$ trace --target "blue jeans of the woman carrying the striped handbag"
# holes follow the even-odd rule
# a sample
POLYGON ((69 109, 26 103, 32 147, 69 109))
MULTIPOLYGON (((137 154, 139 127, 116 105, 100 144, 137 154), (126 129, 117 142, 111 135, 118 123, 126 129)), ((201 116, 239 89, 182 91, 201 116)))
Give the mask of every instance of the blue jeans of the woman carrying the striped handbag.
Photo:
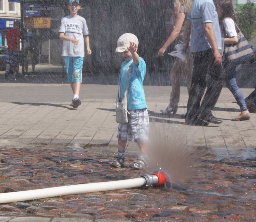
POLYGON ((224 80, 226 82, 228 89, 235 97, 236 102, 240 106, 241 111, 248 110, 246 103, 244 101, 244 96, 243 96, 240 88, 238 88, 238 86, 236 84, 236 66, 233 64, 230 64, 230 62, 225 60, 223 63, 223 67, 225 70, 224 80))

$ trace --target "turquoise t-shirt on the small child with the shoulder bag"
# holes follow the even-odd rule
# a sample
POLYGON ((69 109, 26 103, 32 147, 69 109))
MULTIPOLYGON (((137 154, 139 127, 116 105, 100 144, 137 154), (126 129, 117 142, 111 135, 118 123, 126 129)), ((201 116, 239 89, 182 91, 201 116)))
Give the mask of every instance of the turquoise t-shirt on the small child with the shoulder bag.
POLYGON ((131 70, 128 85, 128 110, 148 108, 143 89, 143 80, 146 75, 146 63, 141 57, 138 67, 136 67, 136 65, 133 63, 132 59, 130 61, 124 61, 121 65, 118 81, 118 84, 120 85, 120 101, 122 101, 124 98, 127 73, 130 64, 131 70))

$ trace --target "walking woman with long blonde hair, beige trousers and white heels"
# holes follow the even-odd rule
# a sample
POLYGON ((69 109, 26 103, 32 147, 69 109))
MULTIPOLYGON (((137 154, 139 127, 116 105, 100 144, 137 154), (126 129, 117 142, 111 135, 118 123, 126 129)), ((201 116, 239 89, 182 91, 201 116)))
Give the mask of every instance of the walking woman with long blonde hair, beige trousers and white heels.
MULTIPOLYGON (((170 34, 167 41, 164 43, 163 47, 158 51, 158 56, 164 56, 164 52, 167 47, 172 44, 172 42, 178 37, 178 43, 182 43, 183 37, 183 25, 186 21, 188 12, 192 4, 192 0, 175 0, 177 6, 177 17, 175 22, 175 27, 170 34)), ((183 51, 181 53, 184 53, 183 51)), ((188 93, 191 87, 191 71, 193 58, 189 50, 186 52, 187 63, 183 62, 180 58, 176 58, 172 70, 170 72, 171 82, 172 82, 172 92, 170 96, 170 103, 166 109, 160 110, 162 113, 169 114, 173 112, 174 114, 178 110, 178 103, 180 101, 180 74, 183 74, 183 78, 186 82, 188 93)))

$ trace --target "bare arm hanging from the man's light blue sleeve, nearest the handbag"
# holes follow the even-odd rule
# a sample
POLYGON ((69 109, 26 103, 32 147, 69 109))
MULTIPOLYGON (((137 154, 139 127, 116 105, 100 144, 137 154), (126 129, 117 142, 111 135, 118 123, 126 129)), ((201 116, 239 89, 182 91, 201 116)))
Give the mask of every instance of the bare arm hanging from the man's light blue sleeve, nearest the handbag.
POLYGON ((217 42, 215 39, 215 34, 214 34, 214 31, 212 28, 212 23, 210 23, 210 22, 204 23, 204 32, 205 32, 206 39, 209 42, 209 44, 213 50, 213 54, 215 57, 215 60, 213 63, 215 65, 218 65, 221 63, 221 54, 219 52, 218 45, 217 45, 217 42))

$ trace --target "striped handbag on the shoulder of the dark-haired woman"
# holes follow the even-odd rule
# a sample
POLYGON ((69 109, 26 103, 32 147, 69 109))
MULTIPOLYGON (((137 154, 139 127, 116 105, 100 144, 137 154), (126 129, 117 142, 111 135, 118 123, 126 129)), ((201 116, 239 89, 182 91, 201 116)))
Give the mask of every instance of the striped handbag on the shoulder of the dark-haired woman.
MULTIPOLYGON (((235 22, 234 22, 235 23, 235 22)), ((249 43, 247 42, 244 34, 240 31, 239 27, 236 25, 238 41, 234 44, 228 44, 224 47, 225 58, 235 65, 252 63, 254 62, 253 51, 249 43)))

